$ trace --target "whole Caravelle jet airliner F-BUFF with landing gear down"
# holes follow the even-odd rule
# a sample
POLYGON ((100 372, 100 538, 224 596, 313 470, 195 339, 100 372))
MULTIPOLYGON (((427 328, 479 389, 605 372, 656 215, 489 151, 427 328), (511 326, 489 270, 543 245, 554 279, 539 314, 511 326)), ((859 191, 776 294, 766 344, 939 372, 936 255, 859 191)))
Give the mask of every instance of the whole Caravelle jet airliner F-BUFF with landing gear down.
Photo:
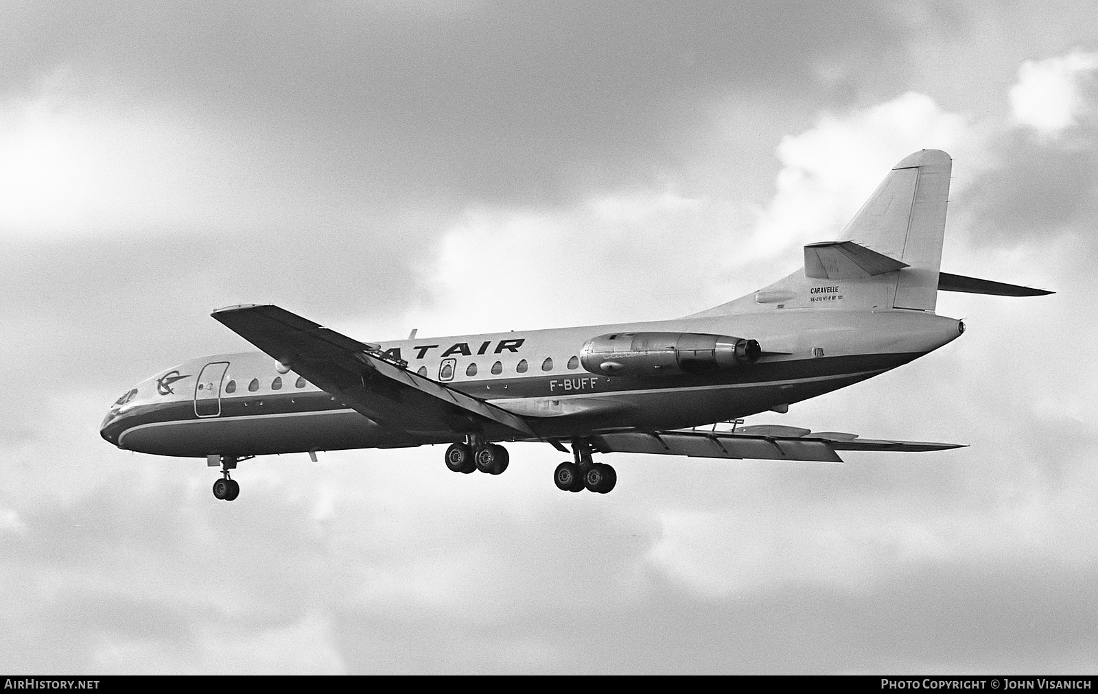
POLYGON ((205 458, 229 471, 262 455, 448 444, 446 466, 500 474, 501 443, 540 441, 571 459, 562 491, 617 482, 595 454, 842 462, 839 451, 928 451, 959 444, 865 439, 743 417, 852 385, 964 333, 934 313, 939 291, 1052 292, 940 271, 952 158, 897 164, 839 240, 733 301, 679 318, 359 342, 282 307, 212 316, 258 351, 190 359, 127 390, 101 426, 125 450, 205 458), (731 424, 731 429, 727 424, 731 424))

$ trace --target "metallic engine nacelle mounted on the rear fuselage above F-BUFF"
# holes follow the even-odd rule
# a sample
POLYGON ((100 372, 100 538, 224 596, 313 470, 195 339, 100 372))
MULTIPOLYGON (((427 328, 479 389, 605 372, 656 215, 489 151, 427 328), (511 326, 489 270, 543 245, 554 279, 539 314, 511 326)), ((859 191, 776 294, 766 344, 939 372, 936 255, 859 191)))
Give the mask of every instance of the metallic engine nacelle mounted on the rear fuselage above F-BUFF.
POLYGON ((759 343, 705 333, 610 333, 592 337, 580 363, 601 376, 710 373, 759 358, 759 343))

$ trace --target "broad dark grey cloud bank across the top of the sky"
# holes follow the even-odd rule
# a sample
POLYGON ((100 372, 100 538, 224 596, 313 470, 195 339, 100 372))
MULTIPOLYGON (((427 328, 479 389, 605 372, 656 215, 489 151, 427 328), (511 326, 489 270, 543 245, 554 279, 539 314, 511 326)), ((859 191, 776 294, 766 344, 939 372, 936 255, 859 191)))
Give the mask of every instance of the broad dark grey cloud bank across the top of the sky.
POLYGON ((864 2, 8 12, 0 25, 20 30, 0 93, 64 69, 93 103, 147 105, 223 133, 215 152, 266 155, 231 174, 268 186, 311 171, 347 195, 503 205, 643 183, 683 161, 730 92, 810 101, 818 59, 875 54, 901 26, 864 2))

